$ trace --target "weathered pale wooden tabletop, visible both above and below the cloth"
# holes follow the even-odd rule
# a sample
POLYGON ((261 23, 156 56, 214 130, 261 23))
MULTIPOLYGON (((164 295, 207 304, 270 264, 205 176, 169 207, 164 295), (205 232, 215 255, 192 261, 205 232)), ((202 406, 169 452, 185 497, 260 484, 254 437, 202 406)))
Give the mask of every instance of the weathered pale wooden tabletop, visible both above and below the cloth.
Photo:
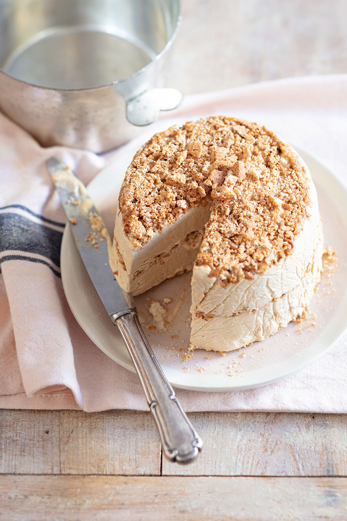
MULTIPOLYGON (((345 0, 183 0, 185 94, 347 71, 345 0)), ((347 519, 347 416, 189 414, 198 461, 163 460, 149 413, 0 411, 0 519, 347 519)))

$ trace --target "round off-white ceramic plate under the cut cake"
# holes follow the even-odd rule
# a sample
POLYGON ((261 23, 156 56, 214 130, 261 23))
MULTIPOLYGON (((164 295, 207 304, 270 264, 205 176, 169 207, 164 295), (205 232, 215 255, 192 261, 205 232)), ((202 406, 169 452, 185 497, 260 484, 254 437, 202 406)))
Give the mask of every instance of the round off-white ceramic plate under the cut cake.
MULTIPOLYGON (((140 144, 136 141, 120 150, 117 163, 107 166, 88 186, 111 234, 124 172, 140 144)), ((197 350, 188 358, 190 274, 163 282, 136 297, 135 301, 140 317, 150 326, 148 307, 151 301, 163 304, 164 298, 171 299, 169 304, 163 304, 169 320, 166 331, 148 331, 147 334, 174 387, 229 391, 263 386, 312 363, 343 333, 347 322, 347 191, 324 165, 304 151, 299 150, 299 153, 316 184, 320 214, 324 219, 325 245, 331 245, 338 258, 332 271, 323 276, 311 302, 309 317, 301 324, 291 322, 286 329, 246 349, 225 356, 197 350)), ((68 226, 61 247, 61 276, 72 313, 88 337, 112 360, 134 371, 120 335, 111 325, 86 273, 68 226)))

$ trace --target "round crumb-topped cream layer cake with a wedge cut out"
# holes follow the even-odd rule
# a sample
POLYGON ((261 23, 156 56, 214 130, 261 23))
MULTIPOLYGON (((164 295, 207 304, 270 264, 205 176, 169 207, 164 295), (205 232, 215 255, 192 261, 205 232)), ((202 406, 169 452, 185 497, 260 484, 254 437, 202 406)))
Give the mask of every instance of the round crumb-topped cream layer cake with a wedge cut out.
POLYGON ((231 351, 300 315, 322 268, 309 169, 276 134, 213 116, 155 134, 119 196, 110 264, 134 295, 192 269, 191 349, 231 351))

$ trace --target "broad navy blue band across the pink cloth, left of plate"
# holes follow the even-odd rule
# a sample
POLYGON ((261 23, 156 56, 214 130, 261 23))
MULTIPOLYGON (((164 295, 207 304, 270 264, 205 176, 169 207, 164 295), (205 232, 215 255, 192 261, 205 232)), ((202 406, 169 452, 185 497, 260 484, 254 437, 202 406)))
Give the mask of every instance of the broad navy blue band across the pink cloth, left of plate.
MULTIPOLYGON (((41 255, 60 268, 60 245, 62 231, 53 230, 44 224, 33 222, 30 217, 0 213, 0 252, 18 251, 41 255)), ((0 263, 4 260, 0 259, 0 263)), ((23 257, 22 260, 27 259, 23 257)), ((10 258, 7 258, 10 260, 10 258)), ((30 259, 33 262, 36 259, 30 259)), ((45 262, 43 262, 45 264, 45 262)), ((47 264, 49 267, 50 265, 47 264)), ((52 269, 52 268, 51 268, 52 269)), ((56 270, 54 270, 56 271, 56 270)))

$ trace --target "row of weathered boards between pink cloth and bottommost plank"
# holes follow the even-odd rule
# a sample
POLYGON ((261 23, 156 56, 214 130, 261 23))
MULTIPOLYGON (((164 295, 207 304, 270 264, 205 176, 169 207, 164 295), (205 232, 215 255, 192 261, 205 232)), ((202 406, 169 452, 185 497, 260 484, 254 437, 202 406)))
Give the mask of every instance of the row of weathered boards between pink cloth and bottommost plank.
MULTIPOLYGON (((163 475, 347 476, 347 416, 192 413, 204 440, 186 467, 163 475)), ((4 474, 159 475, 160 444, 148 413, 0 411, 4 474)))

